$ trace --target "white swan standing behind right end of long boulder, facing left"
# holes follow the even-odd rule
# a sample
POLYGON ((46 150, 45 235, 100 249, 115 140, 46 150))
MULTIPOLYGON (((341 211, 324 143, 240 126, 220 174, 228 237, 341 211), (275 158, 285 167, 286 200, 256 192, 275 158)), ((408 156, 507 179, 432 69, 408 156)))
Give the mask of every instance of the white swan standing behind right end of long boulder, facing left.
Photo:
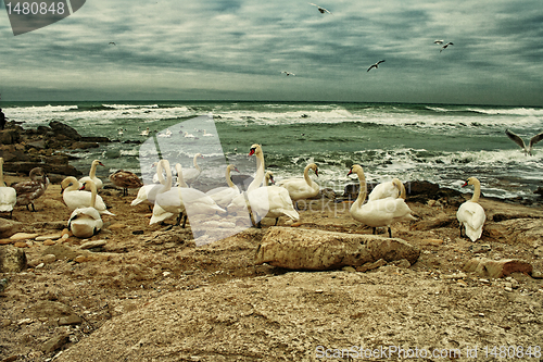
POLYGON ((388 227, 389 237, 392 237, 390 225, 402 221, 415 220, 411 214, 409 207, 405 203, 404 199, 386 198, 379 199, 363 204, 366 199, 366 177, 364 170, 361 165, 353 165, 348 175, 356 174, 358 176, 361 189, 358 198, 351 205, 351 216, 361 223, 374 228, 374 234, 377 227, 388 227))

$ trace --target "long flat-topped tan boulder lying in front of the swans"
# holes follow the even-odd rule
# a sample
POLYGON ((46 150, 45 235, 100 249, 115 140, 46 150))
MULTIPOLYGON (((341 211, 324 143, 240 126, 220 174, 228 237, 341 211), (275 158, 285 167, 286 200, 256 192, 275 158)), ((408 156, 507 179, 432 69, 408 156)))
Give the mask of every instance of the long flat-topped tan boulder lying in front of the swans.
POLYGON ((270 227, 256 251, 255 263, 291 270, 333 270, 361 266, 383 259, 406 259, 411 264, 420 255, 417 247, 399 238, 344 234, 291 227, 270 227))

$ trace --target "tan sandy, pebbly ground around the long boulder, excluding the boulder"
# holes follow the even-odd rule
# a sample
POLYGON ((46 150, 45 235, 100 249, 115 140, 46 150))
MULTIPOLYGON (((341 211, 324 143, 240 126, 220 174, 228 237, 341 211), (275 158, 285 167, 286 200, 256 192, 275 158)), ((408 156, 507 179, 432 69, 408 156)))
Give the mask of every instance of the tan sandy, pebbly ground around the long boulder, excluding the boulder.
MULTIPOLYGON (((0 361, 346 361, 362 355, 340 358, 333 349, 391 344, 457 348, 462 355, 449 360, 475 361, 467 354, 473 346, 477 360, 491 360, 500 355, 483 355, 482 348, 516 346, 520 357, 519 346, 533 352, 543 345, 542 279, 462 272, 478 255, 521 259, 543 271, 540 235, 503 232, 515 229, 516 220, 540 225, 538 209, 482 200, 488 222, 471 242, 459 238, 457 201, 409 203, 418 221, 392 233, 421 249, 417 263, 308 273, 254 264, 272 220, 197 248, 190 227, 149 226, 149 208, 129 205, 136 190, 100 195, 116 215, 103 216, 104 228, 90 239, 106 240, 104 247, 81 250, 88 240, 75 237, 50 246, 30 241, 24 250, 31 267, 0 274, 8 279, 0 294, 0 361)), ((301 212, 296 227, 371 233, 350 216, 348 203, 318 202, 316 211, 301 212)), ((36 207, 13 212, 24 232, 59 233, 71 213, 59 185, 36 207)))

